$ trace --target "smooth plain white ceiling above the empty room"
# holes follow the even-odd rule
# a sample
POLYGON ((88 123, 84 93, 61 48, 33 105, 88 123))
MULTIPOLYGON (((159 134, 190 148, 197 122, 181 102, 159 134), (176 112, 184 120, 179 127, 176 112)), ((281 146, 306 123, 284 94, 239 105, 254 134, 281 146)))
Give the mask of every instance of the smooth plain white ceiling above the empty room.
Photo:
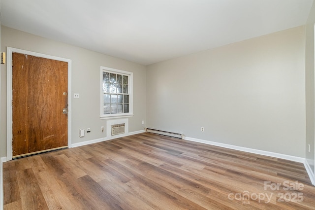
POLYGON ((304 25, 313 0, 1 0, 1 24, 143 65, 304 25))

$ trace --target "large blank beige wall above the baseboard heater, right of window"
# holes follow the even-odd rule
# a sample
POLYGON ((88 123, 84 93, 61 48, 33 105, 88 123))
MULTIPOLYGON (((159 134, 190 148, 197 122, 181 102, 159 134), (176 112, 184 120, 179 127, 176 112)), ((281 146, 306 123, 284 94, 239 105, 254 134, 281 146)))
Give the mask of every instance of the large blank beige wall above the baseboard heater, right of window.
POLYGON ((147 66, 147 119, 190 138, 305 157, 305 28, 147 66))

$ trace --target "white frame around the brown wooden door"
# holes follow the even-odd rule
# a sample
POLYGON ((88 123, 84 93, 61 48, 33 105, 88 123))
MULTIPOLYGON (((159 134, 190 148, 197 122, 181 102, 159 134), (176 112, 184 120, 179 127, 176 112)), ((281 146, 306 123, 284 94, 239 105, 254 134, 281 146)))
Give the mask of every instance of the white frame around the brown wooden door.
POLYGON ((47 58, 57 61, 63 61, 68 63, 68 148, 71 148, 71 60, 41 53, 36 53, 32 51, 7 47, 6 48, 6 55, 7 55, 7 64, 6 64, 6 160, 12 160, 12 138, 13 138, 13 131, 12 131, 12 53, 21 53, 32 55, 41 58, 47 58))

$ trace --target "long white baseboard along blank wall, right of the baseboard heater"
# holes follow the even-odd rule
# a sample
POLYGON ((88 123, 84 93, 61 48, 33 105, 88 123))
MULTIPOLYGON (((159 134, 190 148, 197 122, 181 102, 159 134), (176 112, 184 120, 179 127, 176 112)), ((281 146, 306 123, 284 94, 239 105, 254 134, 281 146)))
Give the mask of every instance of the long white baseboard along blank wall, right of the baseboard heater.
POLYGON ((301 157, 296 157, 296 156, 291 156, 291 155, 285 155, 285 154, 280 154, 276 152, 269 152, 269 151, 264 151, 264 150, 259 150, 259 149, 252 149, 252 148, 247 148, 247 147, 242 147, 242 146, 235 146, 231 144, 226 144, 226 143, 219 143, 215 141, 209 141, 209 140, 200 140, 200 139, 194 139, 190 137, 184 137, 184 140, 190 140, 190 141, 195 141, 199 143, 205 143, 205 144, 210 144, 214 146, 221 146, 224 148, 228 149, 235 149, 243 152, 249 152, 249 153, 254 153, 258 155, 265 155, 265 156, 270 156, 270 157, 275 157, 275 158, 281 158, 285 160, 291 160, 294 162, 299 162, 299 163, 304 163, 305 158, 301 157))

